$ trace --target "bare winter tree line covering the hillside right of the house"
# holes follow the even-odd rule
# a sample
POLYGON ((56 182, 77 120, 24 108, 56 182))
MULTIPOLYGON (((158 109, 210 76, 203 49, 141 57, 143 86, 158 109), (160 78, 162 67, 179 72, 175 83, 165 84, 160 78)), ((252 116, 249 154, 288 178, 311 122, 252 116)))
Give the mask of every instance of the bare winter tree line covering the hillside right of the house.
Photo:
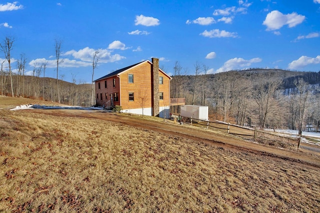
MULTIPOLYGON (((211 119, 236 125, 318 132, 320 73, 248 69, 206 74, 194 64, 194 75, 175 63, 171 98, 209 107, 211 119)), ((178 113, 175 107, 174 113, 178 113)))

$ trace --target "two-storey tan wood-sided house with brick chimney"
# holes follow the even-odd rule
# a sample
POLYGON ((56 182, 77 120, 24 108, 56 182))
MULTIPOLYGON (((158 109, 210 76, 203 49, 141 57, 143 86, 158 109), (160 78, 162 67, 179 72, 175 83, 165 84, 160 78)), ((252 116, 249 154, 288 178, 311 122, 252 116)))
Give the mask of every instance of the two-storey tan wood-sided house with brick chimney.
POLYGON ((169 117, 171 77, 159 60, 145 60, 96 79, 97 106, 122 107, 122 112, 169 117))

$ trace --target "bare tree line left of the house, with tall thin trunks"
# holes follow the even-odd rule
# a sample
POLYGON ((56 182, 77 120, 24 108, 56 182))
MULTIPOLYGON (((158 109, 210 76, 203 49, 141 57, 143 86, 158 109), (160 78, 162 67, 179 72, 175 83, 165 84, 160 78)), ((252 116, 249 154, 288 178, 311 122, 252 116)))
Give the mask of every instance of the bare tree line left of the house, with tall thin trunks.
MULTIPOLYGON (((59 65, 63 63, 60 58, 62 41, 55 40, 56 79, 45 77, 47 61, 33 66, 32 75, 25 75, 26 56, 20 54, 16 60, 16 67, 12 67, 12 50, 15 39, 6 36, 0 43, 0 50, 4 55, 1 61, 0 94, 6 96, 42 99, 51 102, 77 106, 91 106, 95 104, 93 98, 93 83, 85 84, 76 81, 72 74, 72 83, 63 81, 59 76, 59 65), (7 66, 4 66, 4 64, 7 66), (12 69, 16 68, 16 73, 12 69)), ((98 63, 98 50, 94 52, 92 62, 92 77, 98 63)))

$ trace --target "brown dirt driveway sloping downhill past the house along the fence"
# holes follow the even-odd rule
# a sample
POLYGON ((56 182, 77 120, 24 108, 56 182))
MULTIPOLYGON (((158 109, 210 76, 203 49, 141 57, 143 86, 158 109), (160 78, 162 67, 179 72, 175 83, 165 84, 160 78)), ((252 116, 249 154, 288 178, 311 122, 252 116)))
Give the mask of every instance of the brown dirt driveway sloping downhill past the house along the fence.
MULTIPOLYGON (((206 130, 190 125, 174 124, 172 121, 141 119, 137 116, 114 114, 105 111, 86 110, 41 110, 34 109, 31 112, 49 114, 61 117, 85 117, 97 120, 121 123, 135 128, 151 130, 173 138, 187 138, 195 143, 208 143, 221 149, 242 152, 246 154, 260 155, 261 158, 274 158, 285 160, 292 164, 303 166, 320 167, 320 153, 318 147, 303 144, 299 151, 288 151, 277 147, 256 144, 253 141, 245 141, 233 135, 227 135, 216 131, 206 130)), ((63 119, 63 118, 62 118, 63 119)), ((98 124, 98 122, 97 122, 98 124)))

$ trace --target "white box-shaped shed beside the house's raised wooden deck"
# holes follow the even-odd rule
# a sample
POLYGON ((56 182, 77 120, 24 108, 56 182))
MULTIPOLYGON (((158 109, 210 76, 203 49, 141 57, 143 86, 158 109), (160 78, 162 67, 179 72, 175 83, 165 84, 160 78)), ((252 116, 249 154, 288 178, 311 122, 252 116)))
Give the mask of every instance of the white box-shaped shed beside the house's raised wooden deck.
POLYGON ((208 111, 208 106, 182 105, 180 110, 180 116, 207 121, 208 111))

